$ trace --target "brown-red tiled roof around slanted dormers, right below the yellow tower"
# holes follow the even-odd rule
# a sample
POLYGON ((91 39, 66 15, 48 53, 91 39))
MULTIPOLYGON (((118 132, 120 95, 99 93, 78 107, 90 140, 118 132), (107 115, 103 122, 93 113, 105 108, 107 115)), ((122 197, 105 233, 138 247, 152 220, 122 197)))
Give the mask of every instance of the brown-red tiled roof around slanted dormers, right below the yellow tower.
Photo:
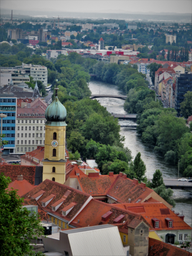
MULTIPOLYGON (((59 207, 54 214, 57 215, 60 218, 64 218, 67 221, 69 221, 71 218, 73 218, 74 215, 81 209, 83 204, 87 201, 87 199, 90 197, 90 195, 85 194, 84 192, 81 192, 79 190, 70 188, 66 185, 57 183, 52 180, 44 180, 41 184, 36 186, 34 189, 32 189, 30 192, 26 193, 23 195, 24 200, 28 200, 31 197, 34 197, 35 194, 40 192, 41 190, 45 191, 44 194, 39 198, 38 201, 34 200, 37 204, 41 205, 41 202, 47 201, 47 198, 52 195, 55 195, 55 197, 52 199, 52 201, 49 202, 49 204, 46 207, 43 207, 43 209, 46 212, 52 212, 52 205, 55 204, 58 200, 61 198, 64 198, 64 195, 68 195, 69 192, 71 191, 70 194, 67 196, 66 200, 62 204, 62 207, 64 208, 65 206, 69 205, 70 203, 76 204, 76 207, 74 207, 68 214, 67 216, 62 215, 61 207, 59 207), (67 194, 65 194, 67 192, 67 194)), ((50 198, 51 199, 51 198, 50 198)), ((35 202, 33 204, 35 204, 35 202)))

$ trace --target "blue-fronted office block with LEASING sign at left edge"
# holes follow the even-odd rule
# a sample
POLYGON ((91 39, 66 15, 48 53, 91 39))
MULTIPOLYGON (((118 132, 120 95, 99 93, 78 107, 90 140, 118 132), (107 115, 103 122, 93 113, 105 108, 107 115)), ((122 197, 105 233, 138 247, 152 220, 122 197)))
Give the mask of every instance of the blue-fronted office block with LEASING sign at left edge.
POLYGON ((8 141, 4 145, 3 154, 15 153, 15 114, 17 113, 17 97, 13 93, 0 93, 0 113, 7 117, 3 118, 2 132, 5 134, 3 140, 8 141))

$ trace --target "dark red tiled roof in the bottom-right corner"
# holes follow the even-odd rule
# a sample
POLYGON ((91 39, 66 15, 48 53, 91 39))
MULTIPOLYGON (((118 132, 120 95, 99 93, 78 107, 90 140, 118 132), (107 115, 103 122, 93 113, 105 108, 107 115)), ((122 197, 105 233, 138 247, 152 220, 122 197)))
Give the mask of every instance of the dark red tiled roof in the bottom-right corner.
POLYGON ((171 244, 163 243, 162 241, 149 238, 148 256, 192 256, 185 250, 177 248, 171 244))

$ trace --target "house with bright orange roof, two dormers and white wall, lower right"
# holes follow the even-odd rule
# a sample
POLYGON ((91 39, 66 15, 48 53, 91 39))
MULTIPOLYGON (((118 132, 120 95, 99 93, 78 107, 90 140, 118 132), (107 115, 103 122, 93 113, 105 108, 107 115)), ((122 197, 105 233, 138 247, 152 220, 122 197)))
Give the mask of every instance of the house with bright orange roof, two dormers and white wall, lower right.
POLYGON ((150 225, 150 230, 155 230, 166 243, 186 241, 191 233, 191 227, 184 222, 184 215, 170 210, 163 203, 146 201, 116 206, 142 215, 150 225))

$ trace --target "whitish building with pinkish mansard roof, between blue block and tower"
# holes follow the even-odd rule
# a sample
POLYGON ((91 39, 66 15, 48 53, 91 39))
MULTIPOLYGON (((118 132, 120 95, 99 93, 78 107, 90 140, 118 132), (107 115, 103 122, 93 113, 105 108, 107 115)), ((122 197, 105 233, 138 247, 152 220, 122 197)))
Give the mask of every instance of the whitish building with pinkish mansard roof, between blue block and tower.
POLYGON ((47 103, 40 98, 17 108, 16 152, 24 154, 34 151, 45 143, 45 110, 47 103))

